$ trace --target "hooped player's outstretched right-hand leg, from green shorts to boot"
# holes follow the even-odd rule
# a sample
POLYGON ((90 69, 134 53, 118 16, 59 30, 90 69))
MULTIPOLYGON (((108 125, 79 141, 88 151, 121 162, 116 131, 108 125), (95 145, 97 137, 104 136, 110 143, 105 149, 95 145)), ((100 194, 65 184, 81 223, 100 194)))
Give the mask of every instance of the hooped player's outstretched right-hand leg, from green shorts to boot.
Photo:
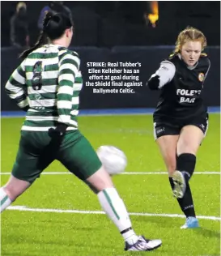
POLYGON ((113 220, 124 238, 125 250, 145 251, 158 248, 162 243, 160 240, 147 240, 134 233, 125 203, 87 139, 79 131, 75 131, 66 134, 62 144, 57 160, 60 160, 71 173, 89 184, 97 194, 104 212, 110 220, 113 220))

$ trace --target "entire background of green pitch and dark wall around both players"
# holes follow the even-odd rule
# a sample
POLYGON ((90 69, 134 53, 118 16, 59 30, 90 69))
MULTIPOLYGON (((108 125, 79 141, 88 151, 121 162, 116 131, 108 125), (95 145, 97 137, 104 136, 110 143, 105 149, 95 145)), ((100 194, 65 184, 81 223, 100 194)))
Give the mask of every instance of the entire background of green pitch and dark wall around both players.
MULTIPOLYGON (((10 18, 18 2, 1 2, 1 181, 7 181, 19 143, 24 113, 8 99, 4 85, 19 64, 22 49, 10 45, 10 18), (20 117, 21 116, 21 117, 20 117)), ((27 1, 31 45, 39 30, 37 19, 48 2, 27 1)), ((172 52, 177 34, 186 26, 205 33, 211 68, 204 97, 210 106, 210 126, 198 152, 191 188, 202 228, 180 230, 184 215, 172 198, 164 162, 153 139, 152 108, 158 92, 136 88, 136 94, 99 95, 84 87, 79 127, 93 147, 113 144, 128 158, 125 175, 113 181, 125 200, 134 228, 163 240, 153 255, 220 254, 220 2, 65 2, 74 19, 71 49, 79 52, 84 83, 86 62, 141 62, 144 83, 172 52), (156 9, 155 6, 158 6, 156 9), (144 15, 159 14, 155 27, 144 15), (118 114, 121 115, 118 115, 118 114), (138 115, 137 113, 142 113, 138 115)), ((96 196, 55 162, 2 214, 1 252, 4 256, 121 256, 123 241, 100 215, 96 196), (46 175, 45 175, 46 174, 46 175)))

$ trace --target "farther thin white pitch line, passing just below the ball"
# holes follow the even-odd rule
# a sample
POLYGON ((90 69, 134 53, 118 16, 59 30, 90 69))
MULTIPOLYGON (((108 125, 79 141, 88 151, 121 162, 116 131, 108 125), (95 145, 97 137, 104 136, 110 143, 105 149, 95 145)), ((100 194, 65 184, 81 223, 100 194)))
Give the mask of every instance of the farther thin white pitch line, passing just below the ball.
MULTIPOLYGON (((0 175, 10 175, 11 173, 0 173, 0 175)), ((66 174, 72 174, 69 172, 43 172, 41 175, 66 175, 66 174)), ((125 172, 125 173, 120 173, 119 175, 161 175, 161 174, 168 174, 167 172, 142 172, 142 173, 136 173, 136 172, 125 172)), ((216 174, 220 175, 221 173, 219 172, 195 172, 194 174, 216 174)))

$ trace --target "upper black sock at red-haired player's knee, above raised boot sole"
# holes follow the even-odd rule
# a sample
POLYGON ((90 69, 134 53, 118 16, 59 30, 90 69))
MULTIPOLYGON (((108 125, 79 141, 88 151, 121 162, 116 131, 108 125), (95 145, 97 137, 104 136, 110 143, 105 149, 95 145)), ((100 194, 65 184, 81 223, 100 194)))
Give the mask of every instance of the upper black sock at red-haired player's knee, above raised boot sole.
POLYGON ((176 156, 176 170, 183 173, 186 182, 192 177, 195 166, 196 156, 193 154, 184 153, 180 156, 176 156))

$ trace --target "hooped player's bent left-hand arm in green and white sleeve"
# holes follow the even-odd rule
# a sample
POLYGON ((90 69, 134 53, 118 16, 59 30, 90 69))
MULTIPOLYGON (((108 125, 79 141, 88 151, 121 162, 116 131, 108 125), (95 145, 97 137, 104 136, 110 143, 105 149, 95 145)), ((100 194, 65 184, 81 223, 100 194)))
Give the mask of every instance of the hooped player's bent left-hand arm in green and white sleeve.
POLYGON ((28 111, 28 98, 27 94, 24 91, 26 86, 25 70, 23 62, 16 70, 12 73, 11 77, 6 83, 6 94, 14 100, 19 108, 24 111, 28 111))

